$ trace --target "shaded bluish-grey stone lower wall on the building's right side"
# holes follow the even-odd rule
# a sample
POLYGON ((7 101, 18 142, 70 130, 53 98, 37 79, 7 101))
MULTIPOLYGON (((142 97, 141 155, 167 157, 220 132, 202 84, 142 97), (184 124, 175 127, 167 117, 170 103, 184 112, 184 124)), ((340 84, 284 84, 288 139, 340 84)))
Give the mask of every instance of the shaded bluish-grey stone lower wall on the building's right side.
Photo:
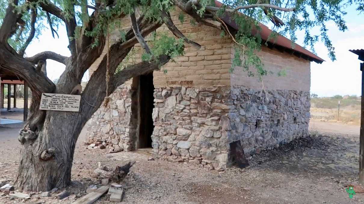
POLYGON ((261 90, 234 86, 226 105, 234 107, 229 142, 241 140, 245 154, 305 137, 310 118, 310 93, 296 90, 261 90), (262 96, 262 97, 261 97, 262 96))

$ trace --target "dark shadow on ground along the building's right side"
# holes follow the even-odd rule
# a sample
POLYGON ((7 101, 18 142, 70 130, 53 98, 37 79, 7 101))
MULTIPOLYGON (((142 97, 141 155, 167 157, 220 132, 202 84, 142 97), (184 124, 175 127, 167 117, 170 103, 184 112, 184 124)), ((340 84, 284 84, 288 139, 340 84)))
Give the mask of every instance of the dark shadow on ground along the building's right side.
MULTIPOLYGON (((253 155, 251 168, 282 174, 327 176, 350 180, 359 173, 359 138, 330 133, 296 139, 253 155)), ((336 180, 336 182, 339 182, 336 180)))

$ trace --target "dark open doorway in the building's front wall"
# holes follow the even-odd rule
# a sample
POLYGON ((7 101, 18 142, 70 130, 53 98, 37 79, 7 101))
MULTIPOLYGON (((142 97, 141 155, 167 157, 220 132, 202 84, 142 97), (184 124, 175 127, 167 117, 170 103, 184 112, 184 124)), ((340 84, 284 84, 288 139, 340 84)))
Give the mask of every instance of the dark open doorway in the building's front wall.
POLYGON ((139 77, 139 137, 137 148, 152 147, 153 108, 154 108, 153 72, 139 77))

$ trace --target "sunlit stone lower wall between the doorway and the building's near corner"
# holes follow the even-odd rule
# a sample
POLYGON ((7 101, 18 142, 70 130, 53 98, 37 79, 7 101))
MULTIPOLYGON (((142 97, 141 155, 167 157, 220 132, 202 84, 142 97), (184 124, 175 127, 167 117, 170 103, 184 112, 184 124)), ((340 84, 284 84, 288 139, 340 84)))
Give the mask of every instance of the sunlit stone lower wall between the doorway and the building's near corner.
POLYGON ((230 87, 165 87, 154 91, 154 156, 209 163, 223 168, 228 159, 226 114, 230 87))

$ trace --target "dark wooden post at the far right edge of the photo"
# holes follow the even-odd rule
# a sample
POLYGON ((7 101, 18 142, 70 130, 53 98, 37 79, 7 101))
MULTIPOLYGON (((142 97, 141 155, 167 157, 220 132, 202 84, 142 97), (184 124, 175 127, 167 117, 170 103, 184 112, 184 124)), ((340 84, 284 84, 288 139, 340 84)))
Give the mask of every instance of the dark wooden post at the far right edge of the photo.
POLYGON ((359 147, 359 184, 364 182, 364 63, 360 64, 361 70, 361 109, 360 109, 360 147, 359 147))

